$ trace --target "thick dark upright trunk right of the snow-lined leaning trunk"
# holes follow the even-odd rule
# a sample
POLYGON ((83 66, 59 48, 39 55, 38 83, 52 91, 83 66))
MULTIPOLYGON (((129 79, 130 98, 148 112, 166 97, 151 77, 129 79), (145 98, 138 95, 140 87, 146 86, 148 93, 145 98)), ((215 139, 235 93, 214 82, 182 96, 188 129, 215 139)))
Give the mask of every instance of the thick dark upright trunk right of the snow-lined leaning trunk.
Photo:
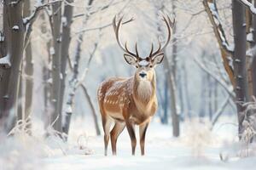
POLYGON ((233 29, 234 29, 234 75, 235 75, 235 92, 236 108, 238 116, 238 133, 241 134, 242 121, 244 119, 244 107, 242 104, 247 102, 247 67, 246 67, 246 26, 245 8, 236 0, 232 1, 233 29))

